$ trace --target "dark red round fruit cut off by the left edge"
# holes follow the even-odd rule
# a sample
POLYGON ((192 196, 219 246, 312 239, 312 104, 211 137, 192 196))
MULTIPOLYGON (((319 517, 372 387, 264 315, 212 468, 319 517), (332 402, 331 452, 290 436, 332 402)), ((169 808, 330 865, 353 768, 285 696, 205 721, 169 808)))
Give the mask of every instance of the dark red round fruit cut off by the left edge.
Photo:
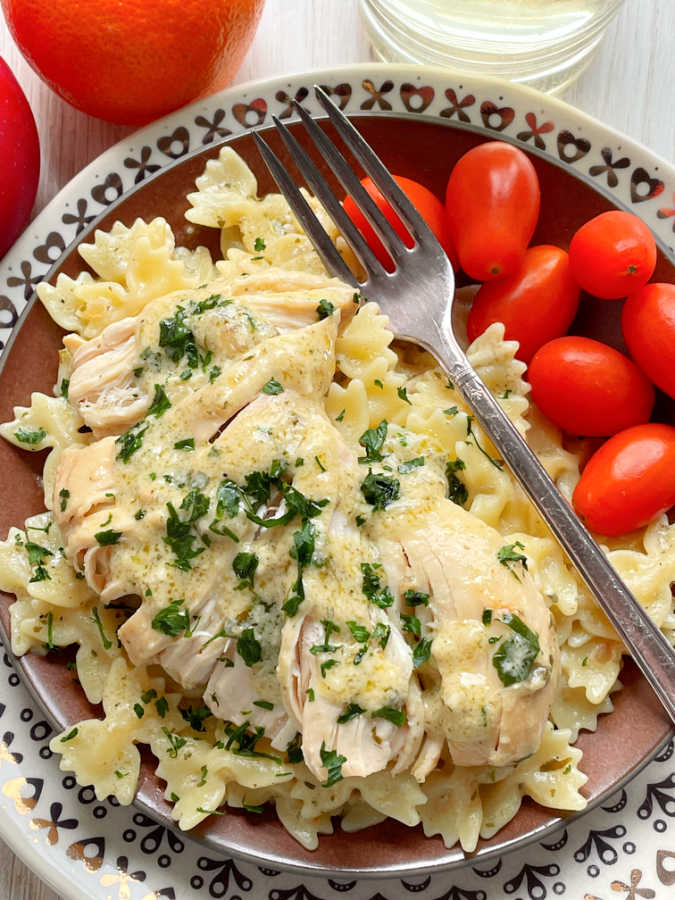
POLYGON ((0 257, 30 218, 40 175, 40 143, 26 97, 0 58, 0 257))

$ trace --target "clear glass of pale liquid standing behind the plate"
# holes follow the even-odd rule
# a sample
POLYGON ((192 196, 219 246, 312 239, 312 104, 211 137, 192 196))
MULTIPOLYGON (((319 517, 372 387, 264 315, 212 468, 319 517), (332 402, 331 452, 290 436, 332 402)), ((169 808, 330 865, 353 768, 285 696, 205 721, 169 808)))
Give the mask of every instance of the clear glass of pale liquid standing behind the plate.
POLYGON ((623 0, 361 0, 377 58, 445 66, 560 93, 623 0))

